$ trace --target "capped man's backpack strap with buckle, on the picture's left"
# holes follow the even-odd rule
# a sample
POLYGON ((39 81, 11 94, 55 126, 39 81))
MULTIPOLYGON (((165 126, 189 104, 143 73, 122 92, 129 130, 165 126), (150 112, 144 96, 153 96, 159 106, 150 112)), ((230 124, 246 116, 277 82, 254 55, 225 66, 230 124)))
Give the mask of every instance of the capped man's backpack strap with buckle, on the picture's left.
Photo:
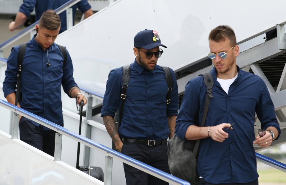
POLYGON ((121 98, 121 107, 120 107, 120 114, 119 114, 119 123, 118 123, 118 128, 120 127, 122 116, 123 116, 123 108, 124 108, 124 103, 125 103, 125 98, 126 98, 126 91, 128 88, 128 83, 130 81, 130 65, 122 66, 123 72, 122 72, 122 92, 120 95, 121 98))

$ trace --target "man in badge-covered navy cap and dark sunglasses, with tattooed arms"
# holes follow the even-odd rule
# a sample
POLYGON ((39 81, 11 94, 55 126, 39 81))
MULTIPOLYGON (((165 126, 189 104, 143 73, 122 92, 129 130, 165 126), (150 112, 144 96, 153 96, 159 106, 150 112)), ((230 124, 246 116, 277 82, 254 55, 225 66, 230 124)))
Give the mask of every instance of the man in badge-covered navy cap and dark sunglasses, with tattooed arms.
MULTIPOLYGON (((174 71, 171 101, 167 102, 168 85, 162 67, 157 65, 163 50, 157 31, 143 30, 134 38, 134 63, 130 64, 130 81, 126 89, 121 125, 116 129, 114 116, 121 107, 123 67, 109 73, 101 116, 116 149, 132 158, 170 173, 167 138, 174 135, 178 106, 178 85, 174 71), (167 102, 167 103, 166 103, 167 102)), ((123 163, 126 184, 168 184, 123 163)))

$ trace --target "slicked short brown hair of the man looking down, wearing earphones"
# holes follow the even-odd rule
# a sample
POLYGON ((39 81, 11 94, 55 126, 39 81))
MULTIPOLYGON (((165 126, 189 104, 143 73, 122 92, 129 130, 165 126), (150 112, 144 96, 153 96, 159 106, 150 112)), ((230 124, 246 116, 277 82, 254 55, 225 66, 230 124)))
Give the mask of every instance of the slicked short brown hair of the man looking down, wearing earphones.
POLYGON ((54 10, 45 11, 39 21, 40 27, 55 30, 61 27, 60 16, 54 10))

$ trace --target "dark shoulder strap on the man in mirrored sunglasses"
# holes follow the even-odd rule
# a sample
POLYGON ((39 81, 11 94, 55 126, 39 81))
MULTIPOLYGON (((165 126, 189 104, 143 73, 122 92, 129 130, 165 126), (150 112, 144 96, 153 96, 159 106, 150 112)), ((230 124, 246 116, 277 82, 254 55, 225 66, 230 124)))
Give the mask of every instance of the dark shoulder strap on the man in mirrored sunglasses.
MULTIPOLYGON (((214 78, 211 75, 210 72, 204 73, 204 74, 200 74, 199 76, 203 76, 204 78, 204 82, 205 82, 205 86, 207 87, 207 97, 205 100, 205 109, 204 109, 204 113, 202 115, 202 123, 201 123, 201 127, 205 126, 205 119, 207 117, 208 114, 208 105, 210 104, 210 100, 211 98, 214 98, 212 91, 213 91, 213 86, 214 86, 214 78)), ((200 139, 197 140, 196 145, 194 147, 194 151, 193 154, 194 156, 197 155, 197 151, 199 149, 199 145, 200 145, 200 139)))

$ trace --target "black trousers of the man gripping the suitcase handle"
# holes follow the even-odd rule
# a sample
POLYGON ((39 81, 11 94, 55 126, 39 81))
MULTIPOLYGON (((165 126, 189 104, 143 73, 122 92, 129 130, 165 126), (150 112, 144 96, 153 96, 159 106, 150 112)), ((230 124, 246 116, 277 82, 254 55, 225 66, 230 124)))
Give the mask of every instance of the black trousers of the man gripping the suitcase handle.
POLYGON ((42 125, 37 127, 23 116, 19 122, 19 130, 21 141, 54 157, 56 133, 54 130, 43 130, 42 125))

